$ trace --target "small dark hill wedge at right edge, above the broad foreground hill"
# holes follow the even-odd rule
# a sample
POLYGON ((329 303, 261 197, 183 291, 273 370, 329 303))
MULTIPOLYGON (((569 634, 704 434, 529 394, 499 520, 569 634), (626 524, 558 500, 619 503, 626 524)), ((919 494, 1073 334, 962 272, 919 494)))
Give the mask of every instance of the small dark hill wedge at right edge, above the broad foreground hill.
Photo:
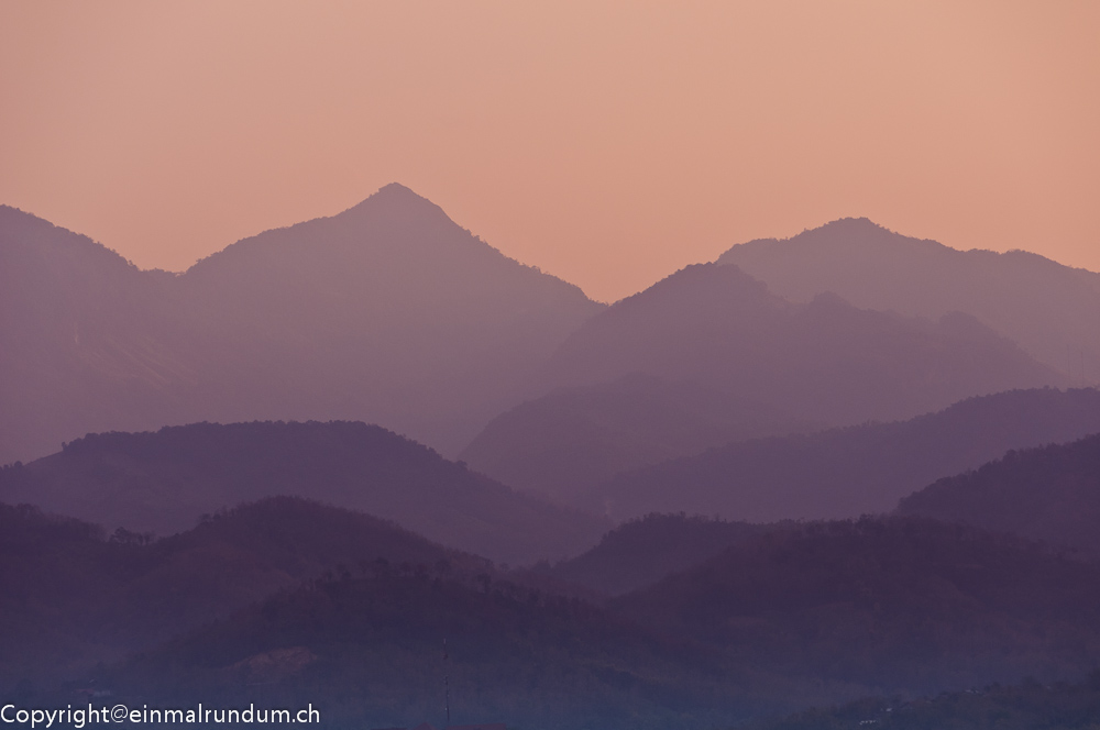
POLYGON ((1100 557, 1100 434, 1010 451, 905 497, 898 511, 1013 532, 1100 557))

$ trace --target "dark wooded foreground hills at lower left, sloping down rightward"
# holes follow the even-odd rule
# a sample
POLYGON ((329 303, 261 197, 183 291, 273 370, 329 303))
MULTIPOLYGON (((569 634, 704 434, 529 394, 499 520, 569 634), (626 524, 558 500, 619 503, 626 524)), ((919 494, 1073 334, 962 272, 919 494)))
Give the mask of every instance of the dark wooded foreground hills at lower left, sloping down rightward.
POLYGON ((484 558, 297 498, 156 541, 0 505, 0 694, 29 706, 79 707, 86 688, 135 707, 304 698, 326 727, 374 727, 439 716, 447 674, 455 719, 690 729, 835 689, 715 663, 484 558))

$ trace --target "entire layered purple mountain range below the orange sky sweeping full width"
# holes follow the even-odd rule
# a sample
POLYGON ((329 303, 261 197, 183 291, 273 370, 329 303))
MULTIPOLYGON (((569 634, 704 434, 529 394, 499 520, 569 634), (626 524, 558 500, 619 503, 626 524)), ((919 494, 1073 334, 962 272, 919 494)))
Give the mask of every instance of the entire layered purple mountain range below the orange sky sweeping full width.
POLYGON ((178 274, 0 207, 0 696, 1069 717, 1098 281, 844 219, 608 306, 396 184, 178 274))

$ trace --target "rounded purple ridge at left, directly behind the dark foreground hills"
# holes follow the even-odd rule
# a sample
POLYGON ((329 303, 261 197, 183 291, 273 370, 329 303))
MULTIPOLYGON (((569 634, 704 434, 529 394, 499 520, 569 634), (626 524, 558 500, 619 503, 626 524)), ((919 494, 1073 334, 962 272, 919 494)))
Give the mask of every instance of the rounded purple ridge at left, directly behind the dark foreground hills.
POLYGON ((0 500, 160 534, 274 495, 370 512, 508 562, 575 554, 607 527, 364 423, 196 423, 90 434, 0 472, 0 500))

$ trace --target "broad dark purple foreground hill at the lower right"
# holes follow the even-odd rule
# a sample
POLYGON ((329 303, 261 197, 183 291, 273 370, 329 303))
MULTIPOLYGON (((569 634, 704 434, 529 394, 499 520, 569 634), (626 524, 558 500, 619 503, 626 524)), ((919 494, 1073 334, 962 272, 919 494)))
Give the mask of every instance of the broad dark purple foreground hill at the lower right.
POLYGON ((1100 651, 1100 564, 913 518, 771 530, 608 605, 740 662, 878 692, 1080 676, 1100 651))

